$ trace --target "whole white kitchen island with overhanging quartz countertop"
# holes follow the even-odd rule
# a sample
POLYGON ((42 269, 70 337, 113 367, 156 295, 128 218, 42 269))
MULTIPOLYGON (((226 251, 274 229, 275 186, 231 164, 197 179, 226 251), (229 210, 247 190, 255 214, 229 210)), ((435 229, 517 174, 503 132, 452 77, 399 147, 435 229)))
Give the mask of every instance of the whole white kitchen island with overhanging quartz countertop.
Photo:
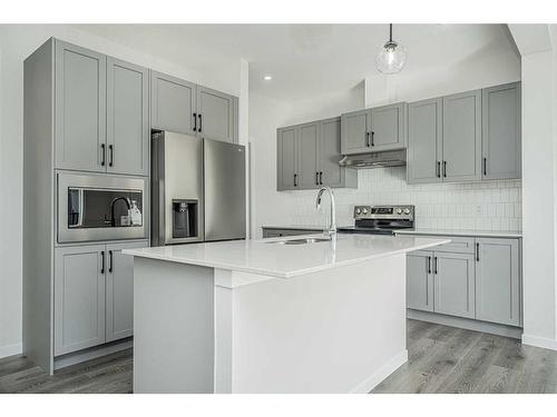
POLYGON ((449 241, 311 235, 126 250, 134 391, 368 393, 408 360, 405 254, 449 241))

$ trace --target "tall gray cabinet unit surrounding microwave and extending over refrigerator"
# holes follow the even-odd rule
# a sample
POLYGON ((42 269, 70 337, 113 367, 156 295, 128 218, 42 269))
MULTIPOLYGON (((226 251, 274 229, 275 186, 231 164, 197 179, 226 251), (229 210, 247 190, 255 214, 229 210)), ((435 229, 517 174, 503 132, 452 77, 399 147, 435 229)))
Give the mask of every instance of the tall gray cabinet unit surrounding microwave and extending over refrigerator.
POLYGON ((150 129, 237 141, 237 98, 58 39, 23 71, 23 353, 52 373, 131 346, 121 251, 149 238, 61 239, 59 176, 143 183, 148 230, 150 129))

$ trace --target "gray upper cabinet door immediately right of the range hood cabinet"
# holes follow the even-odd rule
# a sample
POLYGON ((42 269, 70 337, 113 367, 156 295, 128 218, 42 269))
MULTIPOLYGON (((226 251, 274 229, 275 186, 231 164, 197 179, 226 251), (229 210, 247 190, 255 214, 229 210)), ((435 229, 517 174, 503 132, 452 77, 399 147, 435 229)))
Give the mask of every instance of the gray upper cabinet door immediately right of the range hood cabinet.
POLYGON ((408 105, 408 182, 440 182, 442 99, 408 105))

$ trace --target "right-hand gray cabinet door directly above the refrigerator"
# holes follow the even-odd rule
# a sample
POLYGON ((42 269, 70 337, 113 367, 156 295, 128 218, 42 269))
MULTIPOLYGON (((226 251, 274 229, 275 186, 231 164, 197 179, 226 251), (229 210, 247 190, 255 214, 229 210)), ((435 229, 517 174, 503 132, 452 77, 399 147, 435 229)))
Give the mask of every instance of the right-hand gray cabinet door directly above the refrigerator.
POLYGON ((198 136, 234 142, 234 97, 206 87, 197 87, 198 136))

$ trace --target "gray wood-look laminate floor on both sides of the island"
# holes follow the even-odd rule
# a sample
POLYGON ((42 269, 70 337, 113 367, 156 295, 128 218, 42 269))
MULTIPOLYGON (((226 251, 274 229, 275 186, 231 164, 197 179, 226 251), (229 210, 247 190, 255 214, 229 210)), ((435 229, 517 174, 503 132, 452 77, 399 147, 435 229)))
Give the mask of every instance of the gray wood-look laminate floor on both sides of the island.
MULTIPOLYGON (((409 361, 372 393, 557 393, 557 351, 519 340, 408 320, 409 361)), ((0 359, 0 393, 131 393, 131 349, 46 375, 0 359)))

